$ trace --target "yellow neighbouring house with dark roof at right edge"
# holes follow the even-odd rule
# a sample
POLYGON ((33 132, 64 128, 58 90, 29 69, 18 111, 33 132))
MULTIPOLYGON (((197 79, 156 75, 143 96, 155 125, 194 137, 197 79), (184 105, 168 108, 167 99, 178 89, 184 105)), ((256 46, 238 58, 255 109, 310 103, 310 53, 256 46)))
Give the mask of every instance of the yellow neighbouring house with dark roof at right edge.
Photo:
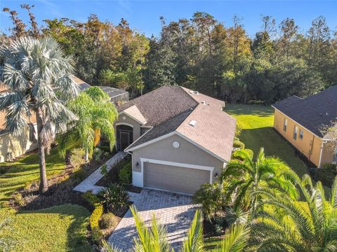
POLYGON ((317 167, 336 163, 337 148, 331 148, 324 128, 337 122, 337 86, 304 99, 292 96, 272 107, 275 130, 310 162, 317 167))

